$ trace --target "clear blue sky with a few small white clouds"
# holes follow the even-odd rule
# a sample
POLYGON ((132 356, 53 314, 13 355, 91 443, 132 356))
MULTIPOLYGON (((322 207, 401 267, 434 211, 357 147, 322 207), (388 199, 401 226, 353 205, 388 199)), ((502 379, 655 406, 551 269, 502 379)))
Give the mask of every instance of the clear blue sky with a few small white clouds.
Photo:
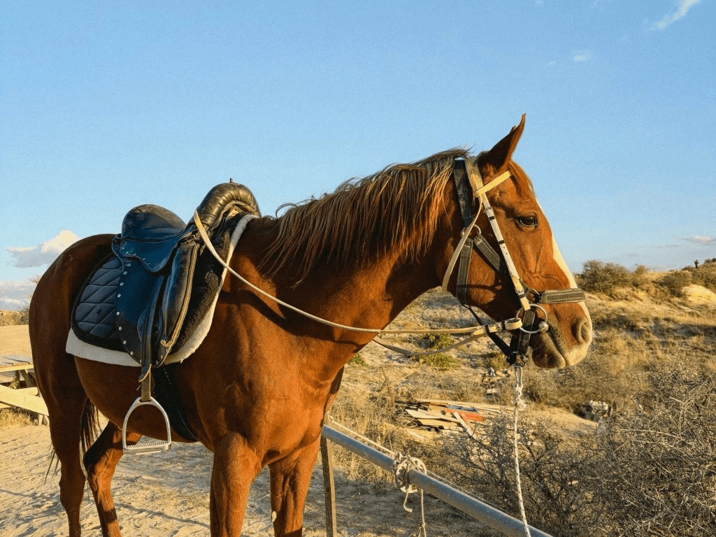
POLYGON ((450 147, 514 160, 570 268, 716 257, 716 1, 0 6, 0 309, 135 205, 263 214, 450 147))

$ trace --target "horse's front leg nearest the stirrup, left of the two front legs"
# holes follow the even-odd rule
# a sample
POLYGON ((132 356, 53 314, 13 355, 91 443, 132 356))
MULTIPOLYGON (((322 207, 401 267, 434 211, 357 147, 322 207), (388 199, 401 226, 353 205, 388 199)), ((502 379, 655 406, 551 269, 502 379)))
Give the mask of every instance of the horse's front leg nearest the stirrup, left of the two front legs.
POLYGON ((259 470, 261 461, 241 435, 228 435, 217 443, 209 498, 212 537, 241 535, 248 489, 259 470))

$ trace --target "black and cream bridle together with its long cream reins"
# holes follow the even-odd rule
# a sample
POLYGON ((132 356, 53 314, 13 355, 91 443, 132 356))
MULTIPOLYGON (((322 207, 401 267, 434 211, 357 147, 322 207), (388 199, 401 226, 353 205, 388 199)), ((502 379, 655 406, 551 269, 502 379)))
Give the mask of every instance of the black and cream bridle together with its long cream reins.
MULTIPOLYGON (((473 314, 473 316, 475 316, 475 319, 478 321, 480 326, 444 329, 392 330, 359 328, 357 326, 347 326, 334 321, 329 321, 327 319, 322 319, 319 316, 309 314, 308 312, 303 311, 296 306, 281 301, 280 299, 276 298, 276 296, 273 296, 266 291, 263 291, 263 289, 252 284, 246 278, 241 276, 241 274, 238 274, 236 271, 231 269, 231 266, 228 265, 228 262, 221 258, 216 249, 213 247, 211 239, 209 239, 203 226, 203 223, 201 223, 201 220, 198 216, 198 213, 194 213, 193 220, 197 227, 199 235, 205 243, 206 248, 208 248, 208 250, 224 267, 224 269, 233 274, 233 276, 236 276, 239 280, 243 282, 243 284, 246 284, 246 286, 248 286, 250 289, 253 289, 253 291, 256 291, 258 294, 266 296, 266 298, 275 301, 277 304, 281 304, 281 306, 285 306, 286 308, 296 311, 296 313, 306 316, 309 319, 313 319, 314 321, 317 321, 321 324, 326 324, 327 326, 333 326, 334 328, 351 330, 354 332, 367 332, 372 334, 469 334, 468 337, 460 340, 458 343, 453 344, 445 349, 441 349, 442 351, 452 349, 453 347, 458 347, 459 345, 473 341, 478 337, 489 336, 490 339, 492 339, 493 342, 499 347, 499 349, 505 354, 505 357, 507 357, 507 360, 511 365, 523 364, 526 361, 526 355, 529 347, 529 339, 531 335, 537 334, 538 332, 546 332, 549 329, 549 325, 547 323, 547 312, 539 304, 558 304, 561 302, 584 301, 584 291, 582 291, 581 289, 535 291, 520 279, 517 274, 517 269, 515 268, 515 265, 510 256, 510 252, 505 245, 502 233, 500 233, 500 228, 498 226, 497 221, 495 220, 495 214, 493 212, 493 209, 490 206, 490 202, 488 201, 487 196, 485 195, 488 190, 495 188, 495 186, 499 185, 508 178, 511 178, 511 173, 505 172, 499 175, 497 178, 491 180, 488 185, 483 185, 483 180, 480 176, 480 172, 478 171, 476 163, 477 158, 465 158, 461 160, 456 160, 455 166, 453 168, 455 188, 458 192, 458 205, 460 207, 460 216, 463 221, 463 234, 460 238, 460 242, 458 243, 457 248, 455 248, 455 253, 453 253, 452 258, 450 259, 450 263, 448 264, 448 269, 445 272, 445 277, 442 281, 442 289, 447 290, 448 281, 450 280, 450 276, 455 269, 455 264, 458 263, 459 260, 460 264, 458 266, 458 286, 455 295, 458 297, 460 304, 463 304, 463 306, 468 308, 473 314), (474 200, 478 200, 478 209, 473 214, 474 200), (497 238, 501 255, 500 253, 497 253, 492 246, 490 246, 490 243, 488 243, 483 234, 480 232, 480 228, 477 226, 478 216, 480 216, 480 211, 483 208, 485 209, 485 214, 488 216, 490 226, 492 226, 495 237, 497 238), (478 233, 475 236, 470 237, 473 228, 476 229, 478 233), (488 323, 480 319, 480 317, 475 314, 475 311, 473 311, 470 305, 467 304, 467 293, 469 289, 468 275, 470 274, 470 258, 472 256, 473 248, 475 248, 475 250, 477 250, 483 256, 483 258, 485 258, 486 261, 488 261, 490 266, 492 266, 493 269, 498 272, 498 274, 508 277, 513 282, 513 289, 516 292, 520 308, 517 310, 516 316, 512 319, 488 323), (538 319, 538 316, 536 315, 536 311, 538 310, 543 312, 544 319, 538 319), (509 345, 506 344, 503 339, 501 339, 497 335, 498 332, 505 331, 511 332, 513 334, 511 344, 509 345)), ((246 215, 243 216, 242 221, 246 221, 246 223, 248 223, 248 221, 253 218, 256 218, 256 216, 246 215)), ((243 227, 245 226, 246 224, 244 223, 243 227)), ((388 344, 384 344, 383 342, 380 342, 377 338, 375 338, 374 341, 383 345, 384 347, 395 350, 397 352, 401 352, 402 354, 408 354, 411 356, 432 354, 432 352, 406 352, 405 349, 400 349, 399 347, 392 347, 388 344)))

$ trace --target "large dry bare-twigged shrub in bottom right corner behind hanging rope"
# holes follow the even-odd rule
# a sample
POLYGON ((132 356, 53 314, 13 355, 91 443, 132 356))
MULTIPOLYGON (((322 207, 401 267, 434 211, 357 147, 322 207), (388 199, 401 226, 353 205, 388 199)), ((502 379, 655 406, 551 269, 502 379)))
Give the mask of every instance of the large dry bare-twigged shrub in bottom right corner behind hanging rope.
MULTIPOLYGON (((653 395, 579 442, 523 412, 521 483, 533 526, 555 537, 716 534, 716 375, 672 359, 653 364, 649 382, 653 395)), ((511 419, 483 422, 476 439, 446 439, 441 470, 518 516, 511 419)))

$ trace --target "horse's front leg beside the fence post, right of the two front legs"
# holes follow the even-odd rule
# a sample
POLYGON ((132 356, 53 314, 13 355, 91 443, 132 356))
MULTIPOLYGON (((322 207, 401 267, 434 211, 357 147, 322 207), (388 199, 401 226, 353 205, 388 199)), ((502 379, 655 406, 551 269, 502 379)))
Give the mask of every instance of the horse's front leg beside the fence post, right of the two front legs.
POLYGON ((321 438, 269 465, 276 537, 301 537, 304 502, 321 438))

